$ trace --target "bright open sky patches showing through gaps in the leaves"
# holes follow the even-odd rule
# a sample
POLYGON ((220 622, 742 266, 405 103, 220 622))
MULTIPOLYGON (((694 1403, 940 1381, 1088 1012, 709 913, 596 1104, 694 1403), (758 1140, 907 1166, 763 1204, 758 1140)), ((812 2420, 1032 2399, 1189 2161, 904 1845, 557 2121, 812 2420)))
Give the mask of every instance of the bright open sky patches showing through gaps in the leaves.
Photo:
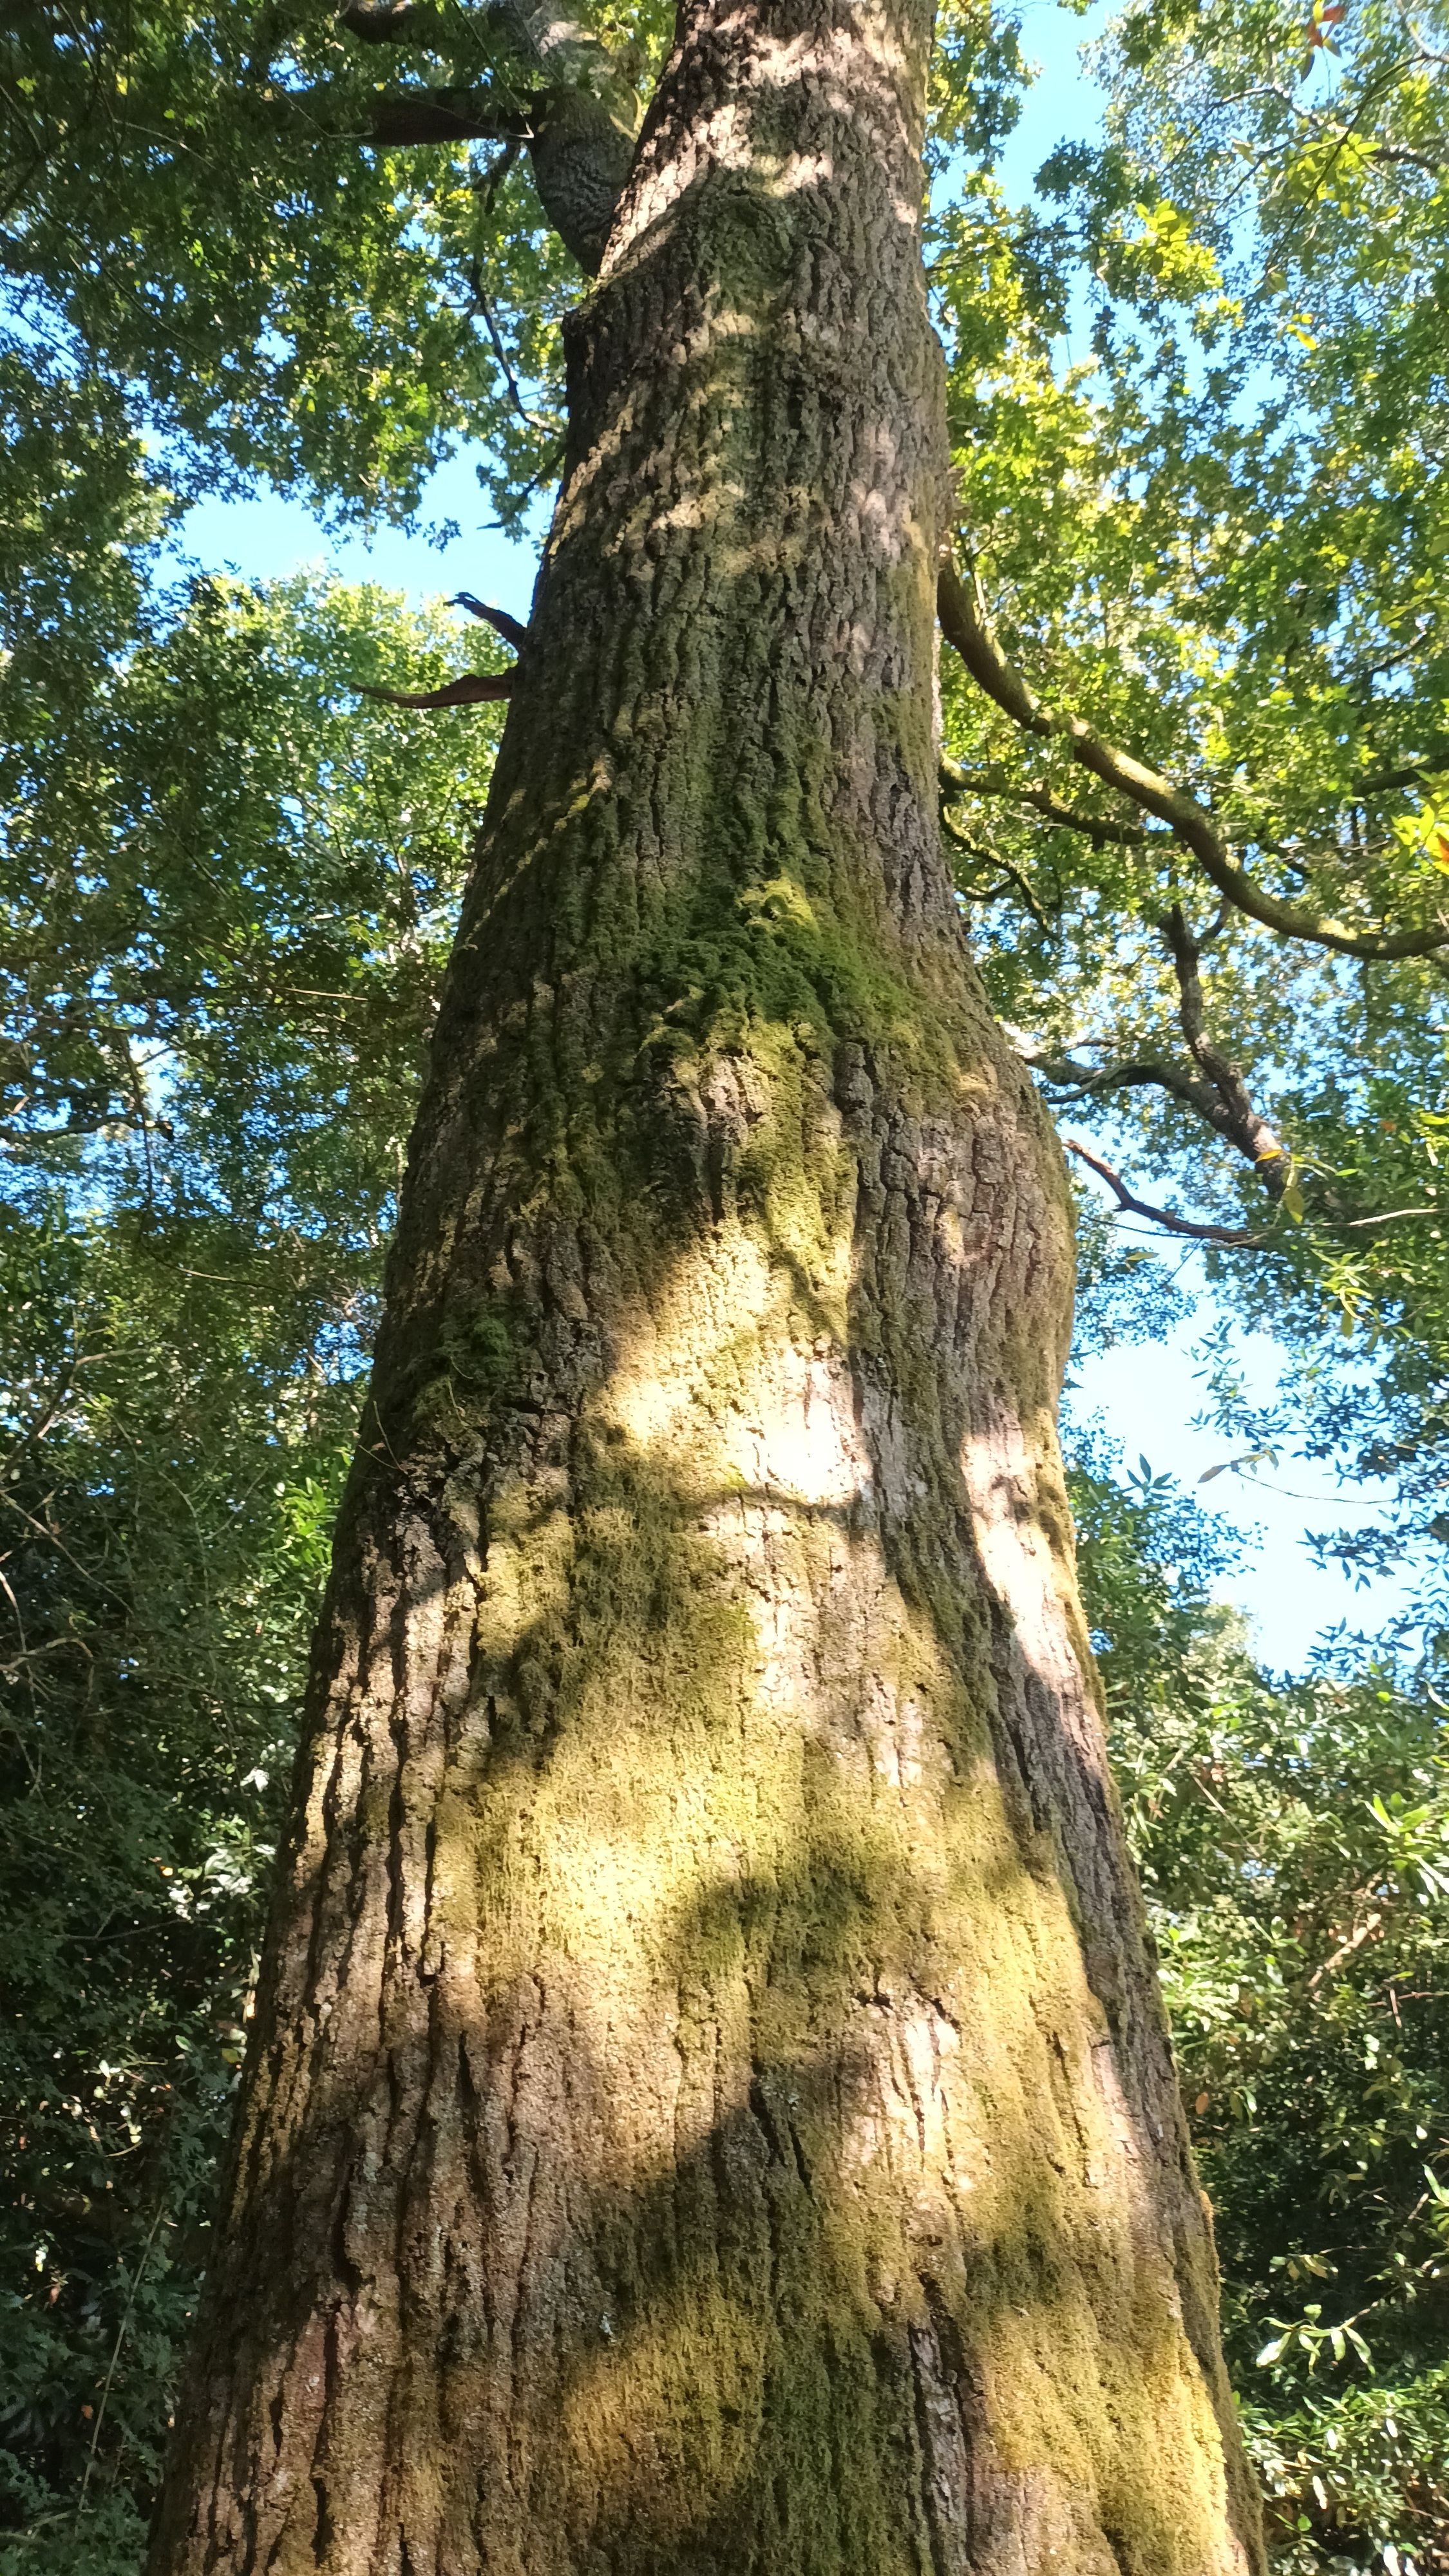
MULTIPOLYGON (((1080 49, 1101 31, 1106 15, 1109 0, 1096 0, 1085 15, 1055 8, 1049 0, 1026 0, 1021 8, 1024 54, 1039 67, 1039 77, 1003 155, 1011 198, 1031 196, 1031 178, 1057 142, 1085 139, 1098 129, 1101 93, 1080 67, 1080 49)), ((474 590, 526 616, 534 549, 513 546, 487 528, 487 502, 467 456, 454 459, 433 479, 428 515, 456 520, 462 533, 446 546, 400 531, 384 531, 371 544, 358 538, 338 544, 299 502, 268 495, 245 502, 209 500, 191 513, 183 544, 191 559, 211 567, 232 564, 258 580, 322 562, 343 580, 384 582, 413 600, 474 590)), ((1160 1342, 1088 1358, 1073 1396, 1078 1414, 1101 1414, 1127 1461, 1145 1455, 1155 1473, 1173 1473, 1186 1486, 1196 1486, 1204 1471, 1232 1455, 1232 1443, 1194 1422, 1204 1409, 1194 1345, 1207 1321, 1212 1321, 1209 1306, 1199 1309, 1194 1324, 1178 1327, 1160 1342)), ((1263 1399, 1271 1396, 1274 1345, 1263 1334, 1243 1337, 1238 1360, 1248 1386, 1263 1399)), ((1336 1497, 1320 1466, 1284 1455, 1276 1468, 1263 1468, 1256 1479, 1214 1476, 1212 1492, 1199 1499, 1240 1533, 1238 1569, 1220 1589, 1253 1620, 1258 1651, 1269 1664, 1299 1667, 1323 1628, 1338 1620, 1374 1628, 1397 1605, 1403 1595, 1397 1584, 1354 1589, 1338 1571, 1320 1571, 1312 1564, 1305 1530, 1333 1528, 1338 1520, 1356 1528, 1372 1512, 1372 1497, 1361 1489, 1336 1497)))

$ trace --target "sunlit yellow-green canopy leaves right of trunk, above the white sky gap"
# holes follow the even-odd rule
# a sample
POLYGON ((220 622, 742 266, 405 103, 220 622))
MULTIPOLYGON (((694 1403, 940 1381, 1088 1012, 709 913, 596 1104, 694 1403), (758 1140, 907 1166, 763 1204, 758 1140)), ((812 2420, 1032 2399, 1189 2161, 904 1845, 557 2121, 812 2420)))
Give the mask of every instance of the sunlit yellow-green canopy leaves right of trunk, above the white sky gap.
POLYGON ((944 827, 1052 1108, 1137 1200, 1245 1247, 1207 1270, 1284 1345, 1256 1437, 1392 1481, 1377 1538, 1325 1546, 1415 1558, 1434 1649, 1449 945, 1372 951, 1449 925, 1449 46, 1436 10, 1310 26, 1129 8, 1104 142, 1057 149, 1034 209, 962 162, 936 201, 959 559, 1062 719, 1024 729, 946 654, 944 827), (1253 920, 1163 799, 1083 775, 1073 724, 1338 945, 1253 920))

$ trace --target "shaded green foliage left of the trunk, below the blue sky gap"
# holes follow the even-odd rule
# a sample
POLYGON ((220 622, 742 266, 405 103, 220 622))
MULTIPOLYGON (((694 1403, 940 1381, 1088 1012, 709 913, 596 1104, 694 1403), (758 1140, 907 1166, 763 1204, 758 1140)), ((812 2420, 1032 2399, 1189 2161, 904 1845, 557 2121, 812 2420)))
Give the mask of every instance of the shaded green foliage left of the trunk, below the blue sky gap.
POLYGON ((451 626, 147 600, 10 806, 3 2563, 121 2571, 157 2473, 490 760, 351 683, 436 680, 451 626))

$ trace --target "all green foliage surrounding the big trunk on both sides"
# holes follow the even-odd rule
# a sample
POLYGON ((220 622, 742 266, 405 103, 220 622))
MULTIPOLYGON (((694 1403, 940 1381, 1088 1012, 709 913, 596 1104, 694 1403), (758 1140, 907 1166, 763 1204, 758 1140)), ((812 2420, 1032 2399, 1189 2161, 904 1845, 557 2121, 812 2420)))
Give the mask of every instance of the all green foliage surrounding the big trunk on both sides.
MULTIPOLYGON (((389 77, 503 77, 485 15, 446 0, 389 77)), ((629 77, 657 62, 657 8, 596 31, 629 77)), ((1171 793, 1134 801, 944 657, 944 819, 1049 1097, 1207 1229, 1225 1430, 1390 1476, 1385 1535, 1325 1546, 1421 1551, 1395 1636, 1271 1685, 1212 1607, 1214 1525, 1080 1440, 1119 1777, 1287 2566, 1431 2576, 1446 18, 1155 0, 1101 59, 1106 144, 1057 152, 1018 211, 993 175, 1016 33, 944 13, 957 559, 998 662, 1171 793), (1418 953, 1377 953, 1403 933, 1418 953), (1240 1319, 1279 1334, 1274 1409, 1235 1386, 1240 1319)), ((193 492, 258 474, 407 518, 462 433, 518 523, 559 443, 578 276, 526 162, 364 149, 374 93, 376 57, 302 0, 41 5, 0 33, 3 2576, 139 2555, 492 742, 480 711, 356 698, 495 667, 477 629, 186 577, 165 546, 193 492)), ((1085 1334, 1160 1324, 1147 1249, 1091 1211, 1085 1247, 1085 1334)))

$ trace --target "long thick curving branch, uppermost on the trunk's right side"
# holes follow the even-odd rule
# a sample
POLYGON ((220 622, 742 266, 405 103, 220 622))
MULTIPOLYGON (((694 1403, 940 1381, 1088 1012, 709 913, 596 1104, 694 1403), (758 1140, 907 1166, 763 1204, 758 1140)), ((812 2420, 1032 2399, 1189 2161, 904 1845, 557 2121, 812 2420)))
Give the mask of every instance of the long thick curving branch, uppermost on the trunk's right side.
POLYGON ((1441 927, 1356 933, 1341 922, 1315 922, 1312 914, 1299 912, 1297 904, 1281 904, 1274 894, 1266 894, 1263 886, 1256 886, 1253 878, 1238 866, 1227 842, 1220 840, 1212 814, 1207 806, 1199 806, 1196 796, 1189 796, 1186 788, 1176 788, 1160 775, 1160 770, 1147 768, 1147 762, 1137 760, 1132 752, 1119 752, 1111 742, 1104 742, 1104 737, 1080 716, 1042 706, 995 641, 977 598, 975 580, 964 582, 949 556, 941 562, 936 605, 941 616, 941 634, 959 652, 977 688, 982 688, 985 696, 993 698, 1024 734, 1036 734, 1044 742, 1065 742, 1073 760, 1091 770, 1093 778, 1101 778, 1104 786, 1129 796, 1142 814, 1155 814, 1158 822, 1165 822, 1173 837, 1199 860, 1204 876, 1212 878, 1217 891, 1253 922, 1263 922, 1269 930, 1281 933, 1281 938, 1307 940, 1315 948, 1336 948, 1341 956, 1351 958, 1413 958, 1449 945, 1449 930, 1441 927))

